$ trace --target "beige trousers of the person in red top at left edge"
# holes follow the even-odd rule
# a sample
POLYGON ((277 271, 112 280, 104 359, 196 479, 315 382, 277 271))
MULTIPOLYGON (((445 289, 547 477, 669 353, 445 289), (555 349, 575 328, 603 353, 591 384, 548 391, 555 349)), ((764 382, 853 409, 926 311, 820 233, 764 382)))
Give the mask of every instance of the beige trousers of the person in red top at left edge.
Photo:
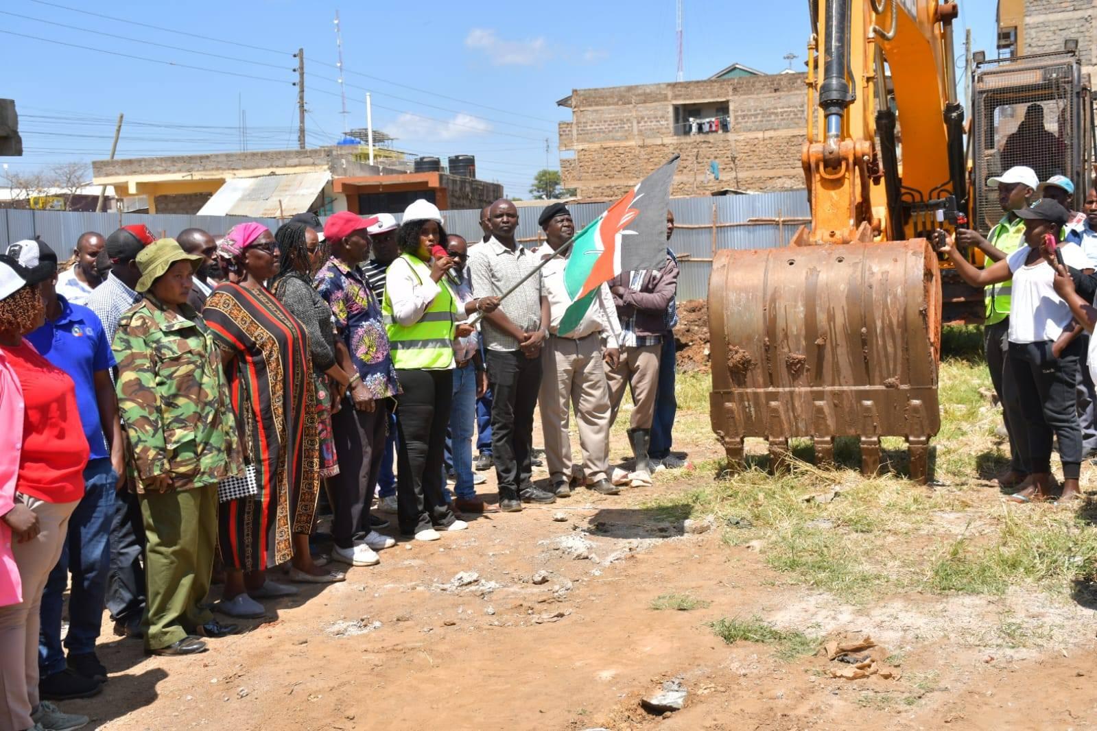
POLYGON ((23 601, 0 607, 0 731, 23 731, 34 726, 38 707, 38 627, 42 592, 49 572, 61 557, 68 521, 79 500, 47 503, 22 495, 23 504, 38 515, 38 536, 29 542, 11 540, 15 566, 23 582, 23 601))

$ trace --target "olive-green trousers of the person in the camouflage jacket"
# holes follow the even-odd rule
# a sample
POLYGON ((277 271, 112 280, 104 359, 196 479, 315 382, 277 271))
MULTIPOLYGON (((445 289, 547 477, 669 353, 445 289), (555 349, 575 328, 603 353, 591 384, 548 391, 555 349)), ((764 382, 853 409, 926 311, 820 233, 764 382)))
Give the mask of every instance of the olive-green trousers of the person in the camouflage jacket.
POLYGON ((210 591, 217 546, 217 486, 145 492, 145 647, 174 644, 213 619, 199 606, 210 591))

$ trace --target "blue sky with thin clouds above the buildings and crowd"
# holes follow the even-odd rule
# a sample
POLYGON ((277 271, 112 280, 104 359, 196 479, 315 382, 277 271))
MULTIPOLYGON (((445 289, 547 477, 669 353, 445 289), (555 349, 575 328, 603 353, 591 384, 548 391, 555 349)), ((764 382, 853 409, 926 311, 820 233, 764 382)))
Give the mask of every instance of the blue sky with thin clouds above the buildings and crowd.
MULTIPOLYGON (((961 22, 988 56, 995 5, 961 0, 961 22)), ((686 0, 685 8, 687 79, 736 61, 779 71, 790 52, 800 57, 796 68, 803 64, 806 0, 686 0)), ((365 126, 369 90, 374 126, 395 135, 399 148, 440 157, 473 153, 479 178, 497 180, 520 197, 528 197, 533 173, 546 164, 545 138, 547 164, 558 167, 556 122, 570 114, 556 100, 572 89, 675 78, 675 0, 342 7, 306 0, 5 0, 0 95, 16 101, 26 152, 0 161, 25 171, 105 158, 120 112, 126 124, 118 157, 237 150, 239 106, 247 113, 248 149, 296 147, 292 54, 298 46, 308 72, 308 144, 335 142, 344 126, 335 81, 336 10, 346 126, 365 126)), ((962 42, 960 31, 961 56, 962 42)))

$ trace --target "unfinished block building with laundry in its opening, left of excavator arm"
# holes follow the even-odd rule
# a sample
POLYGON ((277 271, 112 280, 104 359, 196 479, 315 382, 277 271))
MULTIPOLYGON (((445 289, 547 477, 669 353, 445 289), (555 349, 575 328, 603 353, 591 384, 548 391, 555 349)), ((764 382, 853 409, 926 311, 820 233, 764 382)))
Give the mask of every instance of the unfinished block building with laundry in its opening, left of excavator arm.
POLYGON ((803 187, 804 82, 733 65, 702 81, 576 89, 557 102, 572 110, 559 124, 564 186, 617 197, 678 152, 672 195, 803 187))

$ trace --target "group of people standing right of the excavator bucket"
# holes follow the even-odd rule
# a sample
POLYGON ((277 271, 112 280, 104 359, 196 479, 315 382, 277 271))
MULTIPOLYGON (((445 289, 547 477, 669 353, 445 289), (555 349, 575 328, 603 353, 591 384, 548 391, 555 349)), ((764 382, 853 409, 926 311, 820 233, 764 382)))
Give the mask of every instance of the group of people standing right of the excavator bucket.
POLYGON ((1015 165, 987 185, 997 189, 1002 220, 987 237, 959 230, 943 253, 985 290, 986 363, 1010 455, 998 481, 1018 503, 1076 500, 1082 462, 1097 457, 1097 190, 1090 185, 1077 212, 1064 175, 1040 182, 1015 165), (984 266, 969 261, 973 249, 984 266), (1051 470, 1055 445, 1061 484, 1051 470))

